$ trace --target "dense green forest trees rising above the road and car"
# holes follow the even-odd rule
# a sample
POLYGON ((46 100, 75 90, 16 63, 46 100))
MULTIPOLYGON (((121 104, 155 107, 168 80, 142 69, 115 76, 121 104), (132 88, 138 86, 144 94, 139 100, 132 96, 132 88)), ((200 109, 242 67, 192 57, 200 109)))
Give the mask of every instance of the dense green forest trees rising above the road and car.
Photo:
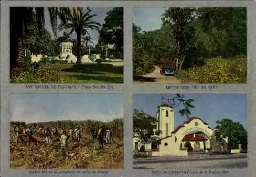
POLYGON ((245 7, 170 7, 160 29, 145 32, 133 24, 134 75, 154 65, 181 70, 203 66, 209 58, 246 56, 246 20, 245 7))

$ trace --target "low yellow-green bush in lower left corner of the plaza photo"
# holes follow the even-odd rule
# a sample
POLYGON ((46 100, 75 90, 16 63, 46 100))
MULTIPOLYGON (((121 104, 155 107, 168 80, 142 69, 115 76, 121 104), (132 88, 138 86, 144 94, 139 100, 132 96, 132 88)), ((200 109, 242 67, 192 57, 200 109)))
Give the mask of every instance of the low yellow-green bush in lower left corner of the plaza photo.
POLYGON ((25 71, 11 78, 11 83, 74 83, 60 75, 61 69, 44 68, 34 72, 25 71))

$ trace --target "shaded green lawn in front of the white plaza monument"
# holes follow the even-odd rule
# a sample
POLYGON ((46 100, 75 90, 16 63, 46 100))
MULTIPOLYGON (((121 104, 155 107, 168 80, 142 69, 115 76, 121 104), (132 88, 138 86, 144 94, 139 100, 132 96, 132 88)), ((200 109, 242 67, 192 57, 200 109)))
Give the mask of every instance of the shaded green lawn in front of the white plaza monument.
POLYGON ((123 66, 111 64, 41 64, 40 68, 60 68, 63 77, 75 83, 123 83, 123 66))

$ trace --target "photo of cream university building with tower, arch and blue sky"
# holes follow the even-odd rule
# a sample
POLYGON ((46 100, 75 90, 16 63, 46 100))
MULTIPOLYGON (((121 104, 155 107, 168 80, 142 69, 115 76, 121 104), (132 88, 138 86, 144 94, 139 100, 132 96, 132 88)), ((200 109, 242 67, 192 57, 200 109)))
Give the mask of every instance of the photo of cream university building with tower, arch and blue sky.
POLYGON ((247 168, 246 93, 133 95, 134 169, 247 168))

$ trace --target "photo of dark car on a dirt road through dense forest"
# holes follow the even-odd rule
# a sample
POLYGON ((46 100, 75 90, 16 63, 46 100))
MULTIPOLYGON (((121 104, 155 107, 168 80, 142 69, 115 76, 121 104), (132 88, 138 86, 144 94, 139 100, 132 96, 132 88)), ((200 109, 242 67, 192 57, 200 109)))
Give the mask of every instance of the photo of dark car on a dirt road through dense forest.
POLYGON ((133 8, 135 83, 247 83, 246 7, 133 8))

